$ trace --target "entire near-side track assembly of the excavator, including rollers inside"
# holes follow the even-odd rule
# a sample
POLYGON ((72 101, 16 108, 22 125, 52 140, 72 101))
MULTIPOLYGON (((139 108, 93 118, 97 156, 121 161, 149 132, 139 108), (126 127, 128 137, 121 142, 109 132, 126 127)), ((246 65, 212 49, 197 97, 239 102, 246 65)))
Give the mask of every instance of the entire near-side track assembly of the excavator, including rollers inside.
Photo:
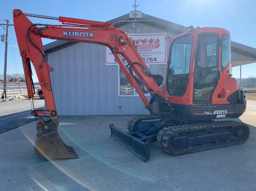
POLYGON ((243 144, 248 138, 249 127, 242 122, 213 121, 164 127, 156 139, 166 153, 181 155, 243 144))

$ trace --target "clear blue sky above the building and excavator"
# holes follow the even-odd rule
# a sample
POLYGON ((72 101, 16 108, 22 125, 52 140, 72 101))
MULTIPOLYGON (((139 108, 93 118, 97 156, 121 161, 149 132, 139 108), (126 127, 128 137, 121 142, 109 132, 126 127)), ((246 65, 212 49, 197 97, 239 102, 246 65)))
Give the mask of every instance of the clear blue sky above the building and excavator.
MULTIPOLYGON (((52 17, 72 17, 96 21, 108 21, 134 10, 135 0, 8 0, 0 6, 0 24, 8 19, 13 24, 13 9, 23 13, 52 17)), ((136 0, 137 10, 167 21, 190 26, 216 26, 227 29, 231 40, 256 48, 255 0, 136 0)), ((29 19, 33 23, 61 24, 57 20, 29 19)), ((6 27, 0 26, 0 35, 6 27)), ((43 45, 52 42, 43 39, 43 45)), ((23 73, 23 67, 14 27, 8 30, 7 74, 23 73)), ((4 73, 5 43, 0 41, 0 74, 4 73)), ((49 63, 49 65, 51 65, 49 63)), ((256 63, 242 66, 242 78, 255 75, 256 63)), ((34 82, 37 82, 33 72, 34 82)), ((234 77, 240 77, 240 66, 232 68, 234 77)))

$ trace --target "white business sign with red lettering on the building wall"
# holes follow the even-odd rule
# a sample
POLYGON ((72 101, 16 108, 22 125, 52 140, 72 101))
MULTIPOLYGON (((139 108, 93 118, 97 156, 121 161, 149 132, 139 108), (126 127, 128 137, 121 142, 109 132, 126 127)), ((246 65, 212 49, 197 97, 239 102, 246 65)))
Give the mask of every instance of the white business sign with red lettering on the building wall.
MULTIPOLYGON (((166 63, 166 33, 129 34, 129 36, 146 64, 166 63)), ((105 48, 105 53, 107 65, 118 64, 108 47, 105 48)), ((121 59, 127 64, 123 57, 121 59)))

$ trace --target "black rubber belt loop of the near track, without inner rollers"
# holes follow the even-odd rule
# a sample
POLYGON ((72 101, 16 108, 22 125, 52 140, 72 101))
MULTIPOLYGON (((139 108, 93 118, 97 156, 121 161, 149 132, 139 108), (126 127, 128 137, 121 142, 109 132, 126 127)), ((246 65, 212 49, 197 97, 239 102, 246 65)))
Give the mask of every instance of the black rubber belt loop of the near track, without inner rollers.
POLYGON ((242 122, 237 122, 237 121, 213 121, 213 122, 205 122, 205 123, 169 126, 169 127, 164 127, 161 131, 159 131, 159 134, 157 135, 157 145, 161 147, 166 153, 176 156, 176 155, 205 151, 205 150, 220 148, 225 146, 243 144, 249 138, 249 131, 250 130, 247 124, 242 122), (196 145, 196 146, 182 147, 177 149, 170 148, 171 138, 179 133, 204 130, 207 128, 222 128, 222 127, 230 127, 230 128, 242 127, 244 131, 243 137, 232 139, 229 142, 224 140, 224 141, 219 141, 214 143, 208 143, 205 145, 196 145))

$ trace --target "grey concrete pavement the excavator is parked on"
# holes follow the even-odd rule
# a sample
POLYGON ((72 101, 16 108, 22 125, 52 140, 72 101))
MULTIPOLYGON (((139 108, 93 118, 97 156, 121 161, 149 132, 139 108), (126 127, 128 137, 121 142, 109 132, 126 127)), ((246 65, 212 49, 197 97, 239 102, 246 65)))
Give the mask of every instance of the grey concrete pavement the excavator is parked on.
POLYGON ((80 159, 39 159, 37 121, 0 134, 0 190, 256 190, 256 101, 238 119, 250 127, 245 144, 172 157, 152 143, 146 163, 110 138, 109 124, 126 131, 130 117, 60 116, 58 132, 80 159))

